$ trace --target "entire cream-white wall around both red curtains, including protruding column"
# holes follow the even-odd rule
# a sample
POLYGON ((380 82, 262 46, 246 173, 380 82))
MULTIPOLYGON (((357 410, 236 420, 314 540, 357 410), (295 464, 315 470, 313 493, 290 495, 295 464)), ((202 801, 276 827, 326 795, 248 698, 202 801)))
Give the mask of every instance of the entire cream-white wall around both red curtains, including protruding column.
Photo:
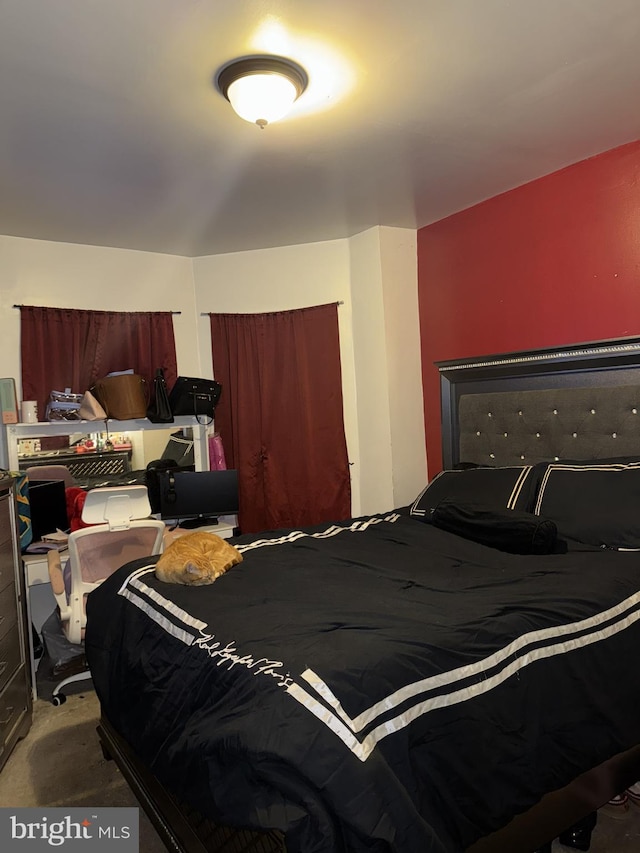
MULTIPOLYGON (((409 503, 426 481, 416 234, 373 228, 349 240, 204 258, 0 236, 0 376, 20 395, 14 304, 178 311, 178 371, 211 377, 208 316, 338 309, 354 515, 409 503)), ((84 390, 84 389, 74 389, 84 390)))

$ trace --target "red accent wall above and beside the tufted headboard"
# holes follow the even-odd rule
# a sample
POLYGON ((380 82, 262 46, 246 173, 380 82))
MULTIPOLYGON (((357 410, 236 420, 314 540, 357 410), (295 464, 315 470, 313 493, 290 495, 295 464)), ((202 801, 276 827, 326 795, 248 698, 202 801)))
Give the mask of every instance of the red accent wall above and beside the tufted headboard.
POLYGON ((640 335, 640 141, 418 231, 429 476, 434 362, 640 335))

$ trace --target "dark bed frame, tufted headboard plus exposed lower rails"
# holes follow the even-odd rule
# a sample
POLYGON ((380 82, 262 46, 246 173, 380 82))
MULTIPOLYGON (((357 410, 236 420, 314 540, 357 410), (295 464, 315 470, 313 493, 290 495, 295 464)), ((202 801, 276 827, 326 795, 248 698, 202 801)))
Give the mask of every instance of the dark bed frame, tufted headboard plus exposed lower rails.
MULTIPOLYGON (((445 468, 640 452, 640 338, 439 362, 437 368, 445 468)), ((218 826, 178 802, 104 717, 98 735, 168 850, 286 853, 279 832, 218 826)), ((552 839, 638 779, 640 745, 547 794, 466 853, 548 851, 552 839)))

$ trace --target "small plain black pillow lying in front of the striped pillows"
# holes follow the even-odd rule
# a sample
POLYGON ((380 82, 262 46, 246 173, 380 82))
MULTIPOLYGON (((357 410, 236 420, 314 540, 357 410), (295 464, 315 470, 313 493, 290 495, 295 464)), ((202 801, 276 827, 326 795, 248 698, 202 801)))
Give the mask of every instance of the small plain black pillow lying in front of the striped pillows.
POLYGON ((554 522, 530 512, 491 510, 446 499, 425 520, 449 533, 510 554, 554 554, 566 550, 564 543, 558 542, 554 522))

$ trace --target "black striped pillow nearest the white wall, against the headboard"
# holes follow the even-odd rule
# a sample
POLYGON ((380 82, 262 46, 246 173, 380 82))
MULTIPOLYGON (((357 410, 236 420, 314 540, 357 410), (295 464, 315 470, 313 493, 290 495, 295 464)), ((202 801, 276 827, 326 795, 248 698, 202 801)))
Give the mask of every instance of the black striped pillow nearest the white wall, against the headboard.
POLYGON ((411 515, 424 519, 445 499, 485 509, 531 512, 541 473, 532 465, 441 471, 416 498, 411 515))

